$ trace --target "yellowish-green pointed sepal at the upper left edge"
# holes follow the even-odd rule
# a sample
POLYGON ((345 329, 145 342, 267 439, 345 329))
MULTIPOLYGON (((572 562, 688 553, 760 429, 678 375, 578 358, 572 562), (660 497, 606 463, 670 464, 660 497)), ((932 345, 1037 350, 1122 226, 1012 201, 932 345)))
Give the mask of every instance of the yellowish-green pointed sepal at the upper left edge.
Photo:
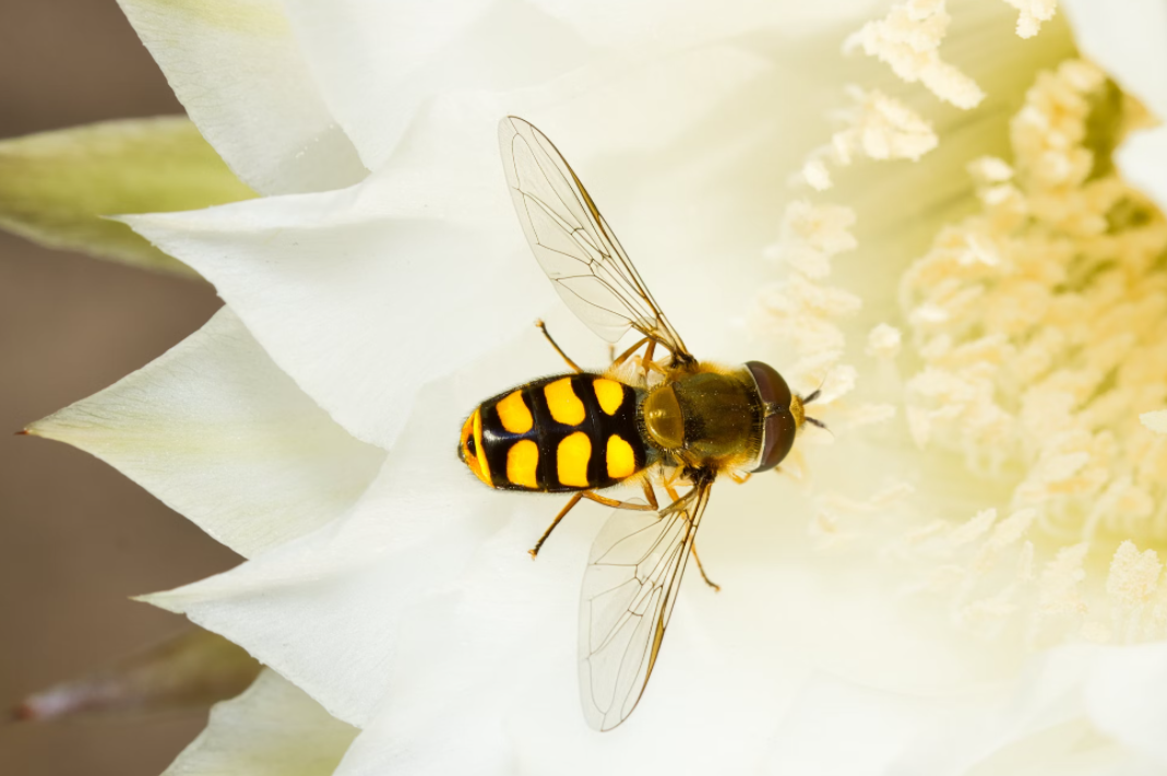
POLYGON ((196 274, 104 216, 254 196, 186 118, 110 121, 0 141, 0 228, 151 270, 196 274))

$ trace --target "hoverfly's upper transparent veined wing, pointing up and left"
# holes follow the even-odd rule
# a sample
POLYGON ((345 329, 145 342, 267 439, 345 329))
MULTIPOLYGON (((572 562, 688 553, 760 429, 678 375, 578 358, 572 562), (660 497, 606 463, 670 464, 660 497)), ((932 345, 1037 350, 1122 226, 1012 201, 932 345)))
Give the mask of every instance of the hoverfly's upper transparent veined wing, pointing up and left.
POLYGON ((515 210, 539 266, 575 315, 616 342, 636 329, 689 356, 608 222, 545 134, 509 116, 498 145, 515 210))

